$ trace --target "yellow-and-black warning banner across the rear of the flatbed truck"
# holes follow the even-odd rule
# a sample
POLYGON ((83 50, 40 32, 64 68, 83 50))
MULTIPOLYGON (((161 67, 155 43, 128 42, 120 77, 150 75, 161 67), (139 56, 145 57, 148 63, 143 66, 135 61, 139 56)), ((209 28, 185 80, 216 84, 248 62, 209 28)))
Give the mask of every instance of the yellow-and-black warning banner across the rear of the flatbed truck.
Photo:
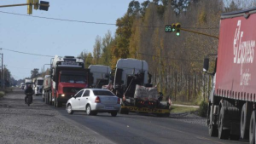
POLYGON ((134 107, 134 106, 121 106, 121 110, 128 110, 129 112, 145 112, 153 114, 170 114, 170 110, 167 108, 148 108, 148 107, 134 107))

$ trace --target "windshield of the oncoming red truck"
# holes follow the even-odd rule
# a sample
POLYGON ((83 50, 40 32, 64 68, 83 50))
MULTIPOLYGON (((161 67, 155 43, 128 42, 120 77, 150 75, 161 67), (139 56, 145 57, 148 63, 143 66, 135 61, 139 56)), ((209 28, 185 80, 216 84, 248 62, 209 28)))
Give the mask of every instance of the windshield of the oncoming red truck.
POLYGON ((61 75, 61 83, 78 83, 85 84, 85 76, 70 76, 70 75, 61 75))

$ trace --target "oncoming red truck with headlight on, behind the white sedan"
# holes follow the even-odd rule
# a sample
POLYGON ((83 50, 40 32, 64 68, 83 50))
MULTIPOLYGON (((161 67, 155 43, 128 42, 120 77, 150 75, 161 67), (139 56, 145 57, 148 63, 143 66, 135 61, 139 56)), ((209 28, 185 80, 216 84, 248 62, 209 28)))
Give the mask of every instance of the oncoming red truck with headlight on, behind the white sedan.
POLYGON ((84 69, 84 60, 73 56, 51 60, 50 75, 44 78, 45 103, 61 107, 71 95, 89 86, 89 69, 84 69))

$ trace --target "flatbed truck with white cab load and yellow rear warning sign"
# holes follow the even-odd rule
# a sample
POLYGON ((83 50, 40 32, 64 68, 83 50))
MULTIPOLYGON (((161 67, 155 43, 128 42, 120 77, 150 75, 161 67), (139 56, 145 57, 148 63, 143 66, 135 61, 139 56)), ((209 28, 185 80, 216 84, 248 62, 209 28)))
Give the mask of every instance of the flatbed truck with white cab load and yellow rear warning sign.
POLYGON ((146 112, 169 116, 169 104, 148 79, 145 60, 119 59, 113 77, 113 92, 121 98, 120 113, 146 112))

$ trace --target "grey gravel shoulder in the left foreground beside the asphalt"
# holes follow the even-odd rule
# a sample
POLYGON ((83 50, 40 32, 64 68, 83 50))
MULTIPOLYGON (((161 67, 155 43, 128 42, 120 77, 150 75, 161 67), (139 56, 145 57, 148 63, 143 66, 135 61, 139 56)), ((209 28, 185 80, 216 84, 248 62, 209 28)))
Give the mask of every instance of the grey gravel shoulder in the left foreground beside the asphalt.
POLYGON ((113 143, 95 131, 64 118, 55 108, 34 96, 31 107, 24 102, 22 91, 0 100, 0 143, 84 144, 113 143))

